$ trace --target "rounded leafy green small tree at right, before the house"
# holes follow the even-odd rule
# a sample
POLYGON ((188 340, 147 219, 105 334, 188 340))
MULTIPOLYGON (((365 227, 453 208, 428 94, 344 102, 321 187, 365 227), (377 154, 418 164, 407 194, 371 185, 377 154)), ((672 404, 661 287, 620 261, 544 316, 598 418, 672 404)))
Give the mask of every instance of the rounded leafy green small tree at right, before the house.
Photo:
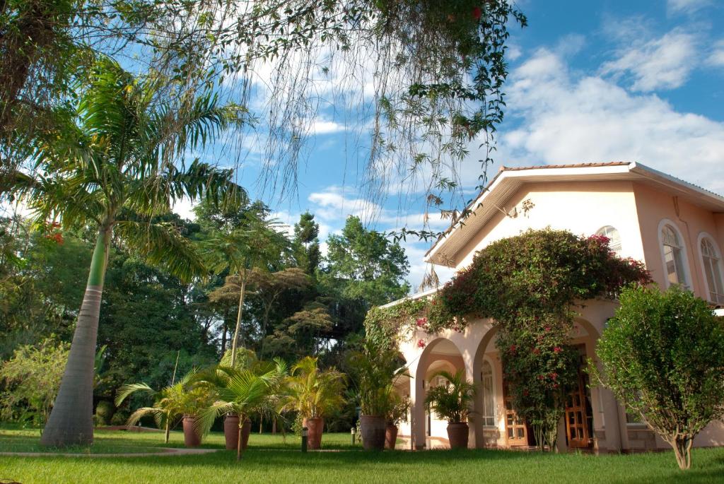
POLYGON ((589 365, 592 374, 689 469, 694 437, 724 415, 724 325, 678 286, 631 286, 620 302, 596 350, 602 372, 589 365))

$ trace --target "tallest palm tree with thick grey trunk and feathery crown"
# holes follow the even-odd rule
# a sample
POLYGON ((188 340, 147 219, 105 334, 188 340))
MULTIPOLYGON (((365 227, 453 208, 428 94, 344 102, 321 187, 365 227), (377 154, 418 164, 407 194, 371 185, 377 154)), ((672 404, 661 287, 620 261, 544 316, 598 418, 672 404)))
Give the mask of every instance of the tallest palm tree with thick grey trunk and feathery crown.
POLYGON ((35 139, 35 176, 15 174, 14 190, 34 211, 36 224, 60 221, 66 228, 97 233, 43 445, 93 441, 93 356, 111 239, 190 279, 203 273, 201 258, 177 227, 155 219, 182 198, 245 199, 243 189, 232 182, 232 170, 198 159, 188 165, 182 161, 187 149, 202 147, 240 122, 243 111, 219 106, 210 94, 171 109, 154 98, 162 82, 135 78, 114 61, 101 59, 79 90, 77 105, 59 110, 56 127, 35 139))

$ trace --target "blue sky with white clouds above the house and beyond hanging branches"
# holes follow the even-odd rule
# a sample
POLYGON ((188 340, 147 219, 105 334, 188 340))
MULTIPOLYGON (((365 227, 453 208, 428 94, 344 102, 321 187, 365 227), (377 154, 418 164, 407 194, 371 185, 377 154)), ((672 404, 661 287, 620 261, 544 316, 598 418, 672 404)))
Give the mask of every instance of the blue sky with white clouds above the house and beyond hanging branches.
MULTIPOLYGON (((637 161, 724 193, 723 1, 517 3, 529 26, 510 27, 508 106, 492 173, 502 165, 637 161)), ((294 196, 280 201, 263 190, 254 143, 238 182, 287 224, 314 213, 322 242, 350 214, 379 231, 419 226, 424 203, 409 194, 401 203, 391 193, 370 209, 358 172, 364 140, 337 112, 334 106, 317 111, 294 196)), ((463 165, 469 198, 479 174, 474 151, 463 165)), ((188 204, 176 210, 190 216, 188 204)), ((429 246, 404 244, 413 289, 426 271, 429 246)), ((437 270, 443 281, 451 275, 437 270)))

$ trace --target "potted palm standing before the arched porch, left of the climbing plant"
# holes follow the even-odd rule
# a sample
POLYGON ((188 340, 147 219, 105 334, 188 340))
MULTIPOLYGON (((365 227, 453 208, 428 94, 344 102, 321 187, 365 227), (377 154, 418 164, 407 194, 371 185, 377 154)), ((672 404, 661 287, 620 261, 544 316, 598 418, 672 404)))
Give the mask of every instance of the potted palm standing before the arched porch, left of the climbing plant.
POLYGON ((468 447, 467 420, 475 397, 475 386, 468 383, 464 375, 465 370, 458 370, 455 374, 448 371, 434 373, 433 378, 442 376, 447 383, 429 389, 425 399, 439 417, 447 420, 447 439, 451 449, 468 447))

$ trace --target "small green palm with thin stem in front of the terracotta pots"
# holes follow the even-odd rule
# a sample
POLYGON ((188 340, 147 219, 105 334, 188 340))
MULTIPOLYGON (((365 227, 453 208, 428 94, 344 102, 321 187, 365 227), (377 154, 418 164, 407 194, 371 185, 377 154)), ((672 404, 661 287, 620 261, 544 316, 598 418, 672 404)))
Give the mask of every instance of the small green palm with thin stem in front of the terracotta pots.
POLYGON ((241 459, 241 428, 249 415, 253 413, 274 413, 278 415, 276 402, 279 400, 283 382, 288 374, 287 365, 282 360, 274 360, 272 365, 260 364, 256 368, 237 369, 219 366, 216 376, 211 376, 216 387, 218 401, 198 414, 198 425, 202 433, 208 433, 214 420, 220 415, 239 416, 236 459, 241 459))

